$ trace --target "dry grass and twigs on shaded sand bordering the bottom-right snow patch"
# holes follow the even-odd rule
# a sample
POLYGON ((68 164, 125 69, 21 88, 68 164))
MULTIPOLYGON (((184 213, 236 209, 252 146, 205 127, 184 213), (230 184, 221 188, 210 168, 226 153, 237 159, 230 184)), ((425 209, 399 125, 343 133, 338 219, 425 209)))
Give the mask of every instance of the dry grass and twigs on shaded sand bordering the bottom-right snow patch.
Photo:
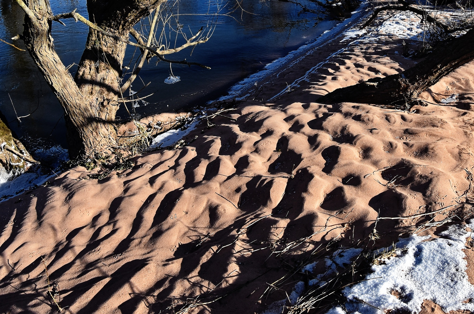
MULTIPOLYGON (((438 229, 447 223, 455 221, 464 222, 474 215, 474 204, 466 203, 466 200, 468 200, 466 195, 468 194, 469 192, 459 195, 455 205, 450 205, 434 212, 426 212, 408 217, 377 217, 376 222, 383 219, 412 220, 413 224, 409 226, 410 231, 406 231, 403 234, 419 233, 428 229, 438 229), (439 215, 443 215, 444 218, 436 221, 436 217, 439 215)), ((334 239, 326 246, 321 244, 315 246, 316 243, 312 243, 312 249, 305 250, 303 248, 310 247, 311 242, 310 237, 306 237, 299 241, 287 243, 282 249, 274 250, 273 253, 283 259, 283 265, 288 269, 288 272, 282 278, 268 284, 268 288, 262 297, 277 291, 286 291, 288 285, 291 283, 294 284, 296 280, 305 283, 305 290, 296 301, 293 300, 293 304, 289 302, 290 298, 285 292, 287 305, 283 306, 282 314, 320 313, 336 305, 344 308, 346 298, 343 296, 342 291, 346 286, 352 286, 365 280, 365 276, 372 265, 381 265, 385 263, 387 259, 397 256, 397 247, 394 243, 392 246, 382 250, 372 249, 376 246, 378 240, 383 238, 383 235, 378 234, 375 229, 376 222, 374 224, 374 231, 366 239, 353 243, 352 248, 362 249, 362 252, 352 260, 351 264, 344 265, 344 267, 338 265, 335 272, 326 272, 322 274, 322 276, 319 275, 318 280, 313 285, 309 283, 311 280, 317 279, 317 275, 301 272, 301 269, 311 262, 322 260, 322 257, 333 260, 332 253, 335 252, 336 249, 349 249, 349 247, 341 247, 339 240, 334 239), (369 247, 369 243, 371 247, 369 247), (301 258, 297 263, 291 264, 288 260, 284 259, 284 256, 294 255, 295 251, 299 251, 300 254, 306 251, 306 258, 301 258)))

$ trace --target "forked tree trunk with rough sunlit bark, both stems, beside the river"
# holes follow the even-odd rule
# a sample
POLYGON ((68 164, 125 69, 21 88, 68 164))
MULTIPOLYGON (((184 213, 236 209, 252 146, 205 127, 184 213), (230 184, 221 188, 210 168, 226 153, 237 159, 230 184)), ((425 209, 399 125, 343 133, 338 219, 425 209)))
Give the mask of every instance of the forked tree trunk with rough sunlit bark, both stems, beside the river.
MULTIPOLYGON (((124 39, 133 26, 165 0, 88 0, 92 22, 124 39)), ((18 1, 26 12, 23 40, 61 103, 69 155, 103 156, 117 145, 115 115, 126 44, 90 29, 75 80, 56 54, 49 0, 18 1)))

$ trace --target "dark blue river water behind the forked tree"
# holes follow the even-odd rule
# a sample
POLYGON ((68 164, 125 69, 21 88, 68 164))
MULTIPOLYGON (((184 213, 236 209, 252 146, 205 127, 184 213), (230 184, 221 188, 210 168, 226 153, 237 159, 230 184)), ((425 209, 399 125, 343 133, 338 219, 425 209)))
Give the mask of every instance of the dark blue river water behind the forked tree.
MULTIPOLYGON (((195 33, 201 27, 210 26, 215 26, 215 30, 208 42, 194 49, 184 49, 176 55, 167 55, 169 59, 186 58, 208 65, 211 70, 173 65, 173 74, 181 81, 167 84, 164 81, 170 76, 169 64, 157 63, 153 58, 133 83, 132 89, 138 91, 151 82, 140 96, 153 93, 146 103, 139 102, 139 107, 132 109, 137 115, 174 111, 217 99, 225 95, 233 84, 319 37, 340 19, 338 11, 331 10, 334 6, 324 4, 326 1, 244 0, 241 8, 233 12, 230 12, 230 5, 220 9, 221 15, 216 21, 216 16, 208 13, 217 11, 219 3, 222 4, 217 1, 181 0, 179 7, 173 7, 174 13, 179 13, 176 24, 182 24, 183 30, 191 29, 195 33)), ((51 7, 54 14, 77 8, 80 14, 88 16, 85 0, 51 0, 51 7)), ((4 34, 0 38, 19 48, 24 48, 22 41, 10 38, 22 33, 23 16, 14 1, 0 0, 0 34, 4 34)), ((66 27, 53 23, 52 36, 55 49, 67 66, 79 62, 88 28, 72 19, 64 22, 66 27)), ((174 39, 173 35, 171 39, 174 39)), ((137 57, 139 51, 129 46, 124 66, 133 68, 137 57)), ((18 136, 46 138, 67 147, 63 110, 28 53, 0 42, 0 68, 0 111, 6 116, 10 128, 18 136), (17 116, 27 117, 20 118, 19 122, 17 116)), ((71 67, 73 75, 76 69, 76 66, 71 67)), ((127 118, 128 113, 121 108, 118 116, 127 118)))

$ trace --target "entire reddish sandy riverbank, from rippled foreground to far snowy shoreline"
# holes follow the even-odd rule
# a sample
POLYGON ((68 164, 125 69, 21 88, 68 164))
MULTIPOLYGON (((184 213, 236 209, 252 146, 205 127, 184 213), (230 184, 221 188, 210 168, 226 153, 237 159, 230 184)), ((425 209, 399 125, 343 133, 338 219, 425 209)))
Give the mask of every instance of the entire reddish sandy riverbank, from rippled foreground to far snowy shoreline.
MULTIPOLYGON (((361 10, 229 102, 232 110, 201 120, 179 148, 135 157, 100 180, 74 167, 0 203, 0 312, 57 313, 54 290, 63 313, 282 313, 311 280, 346 276, 351 263, 365 273, 341 282, 362 280, 362 251, 413 233, 466 241, 459 272, 472 285, 469 230, 456 229, 455 240, 439 231, 472 212, 474 63, 411 111, 318 103, 420 61, 402 55, 403 41, 419 45, 419 19, 404 13, 397 33, 399 13, 387 12, 360 31, 371 12, 361 10), (343 251, 352 255, 336 262, 343 251)), ((387 291, 403 301, 399 290, 387 291)), ((314 313, 342 313, 334 296, 314 313)), ((420 298, 421 312, 444 313, 442 301, 420 298)))

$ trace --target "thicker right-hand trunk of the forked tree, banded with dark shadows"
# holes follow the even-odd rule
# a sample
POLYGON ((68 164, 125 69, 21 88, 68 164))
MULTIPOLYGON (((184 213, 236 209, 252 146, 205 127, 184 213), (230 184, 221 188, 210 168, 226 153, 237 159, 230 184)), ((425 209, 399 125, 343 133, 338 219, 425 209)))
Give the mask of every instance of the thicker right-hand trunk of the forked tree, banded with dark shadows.
MULTIPOLYGON (((111 34, 128 39, 130 29, 165 0, 89 0, 92 22, 111 34)), ((91 151, 117 146, 115 116, 119 108, 120 76, 127 44, 94 29, 89 30, 86 47, 75 76, 92 114, 100 121, 98 135, 103 142, 91 143, 91 151)), ((71 128, 69 128, 71 129, 71 128)), ((75 129, 75 128, 72 128, 75 129)), ((74 134, 71 134, 74 137, 74 134)))

